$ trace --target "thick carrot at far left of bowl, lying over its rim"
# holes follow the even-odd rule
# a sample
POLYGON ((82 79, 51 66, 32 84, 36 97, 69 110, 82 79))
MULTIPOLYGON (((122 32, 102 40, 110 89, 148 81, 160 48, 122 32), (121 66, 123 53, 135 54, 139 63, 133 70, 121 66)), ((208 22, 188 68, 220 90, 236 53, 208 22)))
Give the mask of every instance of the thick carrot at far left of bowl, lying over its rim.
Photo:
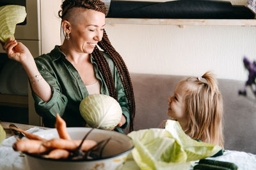
POLYGON ((43 141, 34 139, 20 139, 13 144, 12 148, 15 151, 28 152, 28 153, 44 153, 50 150, 50 148, 42 145, 43 141))

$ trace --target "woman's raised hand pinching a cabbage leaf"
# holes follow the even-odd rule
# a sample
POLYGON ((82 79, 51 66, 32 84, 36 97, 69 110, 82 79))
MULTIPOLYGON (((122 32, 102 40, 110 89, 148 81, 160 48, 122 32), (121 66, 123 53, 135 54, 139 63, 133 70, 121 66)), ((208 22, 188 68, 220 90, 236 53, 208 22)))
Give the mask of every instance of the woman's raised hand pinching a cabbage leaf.
POLYGON ((3 46, 9 59, 20 62, 21 64, 26 64, 29 59, 33 59, 33 56, 29 52, 28 48, 12 38, 8 39, 3 46))

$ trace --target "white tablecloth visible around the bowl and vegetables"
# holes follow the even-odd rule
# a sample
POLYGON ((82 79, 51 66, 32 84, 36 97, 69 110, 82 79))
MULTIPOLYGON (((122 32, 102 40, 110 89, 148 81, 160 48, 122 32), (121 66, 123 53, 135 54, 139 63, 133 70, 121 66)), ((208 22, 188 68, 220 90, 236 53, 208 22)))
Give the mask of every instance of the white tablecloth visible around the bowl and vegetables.
MULTIPOLYGON (((33 127, 27 132, 33 133, 37 131, 44 131, 38 127, 33 127)), ((28 170, 29 166, 26 159, 20 156, 20 152, 15 152, 12 148, 13 143, 16 139, 12 136, 3 141, 0 146, 0 169, 3 170, 28 170)), ((214 160, 221 160, 226 162, 232 162, 236 164, 239 170, 256 169, 256 155, 246 152, 237 152, 232 150, 226 150, 220 157, 209 158, 214 160)), ((125 162, 122 170, 139 170, 140 168, 136 165, 134 160, 128 160, 125 162)), ((32 170, 32 169, 31 169, 32 170)), ((111 169, 109 169, 111 170, 111 169)))

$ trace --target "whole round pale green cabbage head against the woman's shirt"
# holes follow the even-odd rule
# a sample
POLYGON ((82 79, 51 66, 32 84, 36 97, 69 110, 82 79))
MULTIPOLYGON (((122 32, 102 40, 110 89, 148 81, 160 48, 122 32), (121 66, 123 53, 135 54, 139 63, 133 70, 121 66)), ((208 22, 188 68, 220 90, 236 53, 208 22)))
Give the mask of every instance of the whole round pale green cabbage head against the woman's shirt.
POLYGON ((104 94, 85 97, 79 110, 86 124, 99 129, 114 129, 122 117, 120 104, 113 97, 104 94))

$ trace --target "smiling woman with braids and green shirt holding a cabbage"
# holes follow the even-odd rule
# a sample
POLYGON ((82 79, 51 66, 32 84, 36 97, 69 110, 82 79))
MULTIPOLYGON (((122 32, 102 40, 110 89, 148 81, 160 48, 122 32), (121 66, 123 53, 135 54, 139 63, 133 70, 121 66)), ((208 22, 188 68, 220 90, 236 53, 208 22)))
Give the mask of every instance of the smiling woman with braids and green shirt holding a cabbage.
POLYGON ((89 94, 106 94, 123 111, 116 131, 130 122, 135 105, 131 78, 124 60, 104 31, 106 7, 99 0, 66 0, 59 11, 65 40, 61 46, 35 60, 26 46, 9 39, 8 57, 22 64, 28 74, 36 112, 46 127, 54 127, 56 113, 67 126, 83 126, 79 103, 89 94), (104 52, 96 46, 99 45, 104 52))

